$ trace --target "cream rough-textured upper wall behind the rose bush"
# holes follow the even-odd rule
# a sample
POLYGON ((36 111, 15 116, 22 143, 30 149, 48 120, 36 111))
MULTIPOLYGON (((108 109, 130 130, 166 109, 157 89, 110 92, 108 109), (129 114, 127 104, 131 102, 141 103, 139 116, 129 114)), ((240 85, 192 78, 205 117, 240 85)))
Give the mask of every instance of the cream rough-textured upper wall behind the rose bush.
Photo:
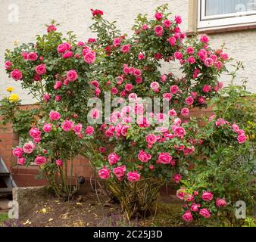
MULTIPOLYGON (((105 12, 105 17, 109 20, 117 20, 117 26, 123 33, 130 34, 130 27, 137 14, 153 15, 154 9, 158 5, 169 3, 170 11, 173 14, 183 16, 182 28, 187 30, 189 0, 1 0, 0 16, 1 16, 1 33, 0 36, 0 67, 4 66, 5 48, 13 48, 13 43, 17 40, 22 42, 34 42, 36 33, 44 33, 45 23, 49 23, 51 19, 55 19, 61 23, 59 29, 67 31, 72 29, 81 39, 87 39, 91 35, 89 33, 90 8, 100 8, 105 12), (10 22, 9 14, 13 5, 17 5, 18 22, 10 22)), ((15 7, 15 6, 14 6, 15 7)), ((214 46, 219 46, 222 42, 226 42, 231 56, 237 60, 244 61, 245 71, 241 73, 242 77, 248 77, 248 87, 250 91, 256 91, 254 73, 256 73, 256 31, 229 33, 212 36, 214 46)), ((173 71, 176 73, 177 67, 165 66, 164 71, 173 71)), ((228 76, 223 76, 225 82, 228 76)), ((33 100, 26 92, 21 90, 20 82, 14 82, 8 79, 5 70, 0 68, 0 98, 5 95, 5 88, 14 86, 15 92, 23 99, 23 104, 33 103, 33 100)))

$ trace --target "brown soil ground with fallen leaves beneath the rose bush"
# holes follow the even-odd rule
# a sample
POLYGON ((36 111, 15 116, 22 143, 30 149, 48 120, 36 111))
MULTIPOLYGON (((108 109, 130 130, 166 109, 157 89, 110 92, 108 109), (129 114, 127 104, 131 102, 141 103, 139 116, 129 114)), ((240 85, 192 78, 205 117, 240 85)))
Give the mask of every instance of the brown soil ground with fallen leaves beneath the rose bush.
MULTIPOLYGON (((30 212, 20 216, 14 225, 28 227, 101 227, 101 226, 187 226, 181 219, 181 204, 173 195, 161 195, 155 215, 143 220, 128 221, 120 213, 120 205, 108 203, 106 194, 89 192, 76 200, 64 202, 56 197, 35 200, 30 212), (103 205, 103 206, 102 206, 103 205)), ((2 223, 11 225, 7 216, 2 223)), ((1 225, 1 220, 0 220, 1 225)))

